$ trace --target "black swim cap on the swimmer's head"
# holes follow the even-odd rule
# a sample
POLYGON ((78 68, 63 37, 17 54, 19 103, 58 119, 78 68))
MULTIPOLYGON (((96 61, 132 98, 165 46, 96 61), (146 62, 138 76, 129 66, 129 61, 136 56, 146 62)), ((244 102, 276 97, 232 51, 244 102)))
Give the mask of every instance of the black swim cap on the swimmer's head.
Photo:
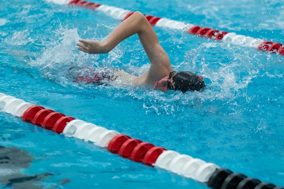
POLYGON ((190 71, 176 71, 172 80, 175 82, 175 91, 201 91, 206 86, 201 76, 190 71))

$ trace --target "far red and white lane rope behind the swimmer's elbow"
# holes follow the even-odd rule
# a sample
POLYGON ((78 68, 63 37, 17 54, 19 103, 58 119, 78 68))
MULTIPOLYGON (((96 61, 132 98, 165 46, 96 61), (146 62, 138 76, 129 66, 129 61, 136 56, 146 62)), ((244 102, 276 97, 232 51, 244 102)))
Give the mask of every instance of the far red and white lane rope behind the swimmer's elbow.
MULTIPOLYGON (((115 19, 125 20, 133 14, 133 11, 117 8, 114 6, 101 5, 88 1, 80 0, 47 0, 56 4, 69 4, 84 7, 87 9, 98 10, 104 12, 106 15, 115 19)), ((284 46, 281 43, 273 43, 271 41, 262 40, 259 38, 252 38, 245 35, 237 35, 233 32, 219 31, 210 29, 208 27, 196 26, 189 23, 175 21, 167 18, 154 17, 151 15, 145 15, 152 26, 169 28, 172 30, 184 30, 187 33, 197 35, 203 38, 210 38, 213 40, 221 40, 226 43, 232 43, 243 47, 252 47, 261 51, 267 51, 271 53, 277 53, 284 55, 284 46)))

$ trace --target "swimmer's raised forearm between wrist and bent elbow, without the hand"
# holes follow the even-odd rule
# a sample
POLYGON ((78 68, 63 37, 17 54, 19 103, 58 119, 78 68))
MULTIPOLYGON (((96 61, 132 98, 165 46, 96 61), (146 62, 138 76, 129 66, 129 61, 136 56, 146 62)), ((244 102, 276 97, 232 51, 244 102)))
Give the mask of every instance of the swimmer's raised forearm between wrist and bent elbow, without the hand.
POLYGON ((143 32, 143 27, 147 27, 147 25, 151 27, 146 17, 141 12, 135 12, 120 23, 103 43, 106 46, 106 49, 111 51, 126 38, 136 33, 139 35, 139 33, 143 32))

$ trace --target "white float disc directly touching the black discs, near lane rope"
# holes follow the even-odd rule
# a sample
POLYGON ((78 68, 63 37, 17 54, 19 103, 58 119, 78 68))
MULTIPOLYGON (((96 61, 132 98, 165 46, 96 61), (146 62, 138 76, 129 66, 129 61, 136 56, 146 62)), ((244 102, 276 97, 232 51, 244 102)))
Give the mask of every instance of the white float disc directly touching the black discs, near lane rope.
POLYGON ((201 183, 208 182, 211 175, 214 173, 216 169, 219 169, 220 167, 214 163, 206 163, 199 167, 199 169, 196 171, 193 179, 197 180, 201 183))

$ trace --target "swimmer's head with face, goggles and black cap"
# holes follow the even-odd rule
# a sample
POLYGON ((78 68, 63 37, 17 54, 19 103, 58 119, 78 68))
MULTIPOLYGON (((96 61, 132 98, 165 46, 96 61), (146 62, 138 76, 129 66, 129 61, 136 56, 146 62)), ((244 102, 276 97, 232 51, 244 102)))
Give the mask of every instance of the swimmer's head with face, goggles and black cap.
POLYGON ((205 87, 201 76, 190 71, 172 71, 169 76, 164 77, 154 85, 154 90, 167 92, 168 90, 201 91, 205 87))

